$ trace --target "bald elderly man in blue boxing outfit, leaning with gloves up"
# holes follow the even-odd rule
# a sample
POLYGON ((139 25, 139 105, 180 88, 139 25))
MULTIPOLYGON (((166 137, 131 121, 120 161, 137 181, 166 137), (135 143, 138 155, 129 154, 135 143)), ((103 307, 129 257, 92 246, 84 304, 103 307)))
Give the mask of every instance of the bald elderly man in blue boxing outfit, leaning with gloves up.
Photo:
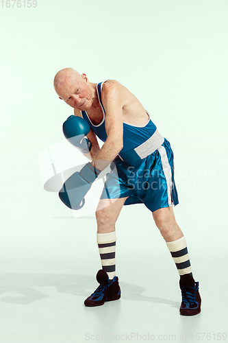
POLYGON ((178 198, 170 143, 157 131, 140 101, 116 80, 94 84, 85 73, 66 68, 55 75, 54 86, 60 99, 74 108, 74 116, 64 122, 65 137, 92 160, 64 182, 59 193, 64 204, 72 209, 83 206, 81 201, 92 182, 113 161, 96 211, 100 285, 84 304, 99 306, 121 297, 115 223, 124 204, 144 203, 177 265, 180 314, 199 314, 199 282, 193 279, 186 239, 173 213, 178 198), (97 137, 104 142, 101 149, 97 137))

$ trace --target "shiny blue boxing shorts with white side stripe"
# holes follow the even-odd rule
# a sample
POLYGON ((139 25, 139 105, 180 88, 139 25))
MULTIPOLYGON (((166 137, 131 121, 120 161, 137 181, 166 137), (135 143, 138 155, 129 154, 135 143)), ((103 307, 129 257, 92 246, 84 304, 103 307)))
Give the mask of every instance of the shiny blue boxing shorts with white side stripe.
POLYGON ((164 139, 152 154, 135 162, 126 162, 117 156, 106 175, 101 199, 128 197, 125 205, 144 203, 153 212, 177 205, 174 180, 173 150, 164 139))

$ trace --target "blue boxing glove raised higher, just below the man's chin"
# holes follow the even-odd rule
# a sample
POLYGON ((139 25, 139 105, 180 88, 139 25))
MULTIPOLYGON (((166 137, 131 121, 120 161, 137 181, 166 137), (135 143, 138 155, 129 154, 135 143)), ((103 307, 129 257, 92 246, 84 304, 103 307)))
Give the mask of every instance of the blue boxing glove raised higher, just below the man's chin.
POLYGON ((84 154, 90 152, 92 143, 85 137, 90 132, 90 126, 85 119, 71 115, 64 121, 62 130, 66 139, 78 150, 84 154))

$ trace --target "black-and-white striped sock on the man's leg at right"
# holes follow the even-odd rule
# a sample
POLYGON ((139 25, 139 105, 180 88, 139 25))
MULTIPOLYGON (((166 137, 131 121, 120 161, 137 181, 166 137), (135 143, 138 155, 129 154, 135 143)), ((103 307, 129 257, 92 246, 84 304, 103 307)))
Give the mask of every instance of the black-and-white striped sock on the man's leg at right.
POLYGON ((179 276, 183 274, 191 274, 192 268, 188 257, 188 248, 185 237, 177 239, 177 241, 166 241, 168 250, 170 251, 173 261, 175 261, 179 276))

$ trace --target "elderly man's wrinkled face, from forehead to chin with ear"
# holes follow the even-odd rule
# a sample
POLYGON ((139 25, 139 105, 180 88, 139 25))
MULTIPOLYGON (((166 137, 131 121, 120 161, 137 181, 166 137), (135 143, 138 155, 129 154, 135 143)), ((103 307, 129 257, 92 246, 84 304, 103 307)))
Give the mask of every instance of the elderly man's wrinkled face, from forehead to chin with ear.
POLYGON ((85 74, 81 78, 73 77, 65 80, 58 87, 58 95, 66 104, 79 110, 88 110, 92 106, 92 92, 85 74))

